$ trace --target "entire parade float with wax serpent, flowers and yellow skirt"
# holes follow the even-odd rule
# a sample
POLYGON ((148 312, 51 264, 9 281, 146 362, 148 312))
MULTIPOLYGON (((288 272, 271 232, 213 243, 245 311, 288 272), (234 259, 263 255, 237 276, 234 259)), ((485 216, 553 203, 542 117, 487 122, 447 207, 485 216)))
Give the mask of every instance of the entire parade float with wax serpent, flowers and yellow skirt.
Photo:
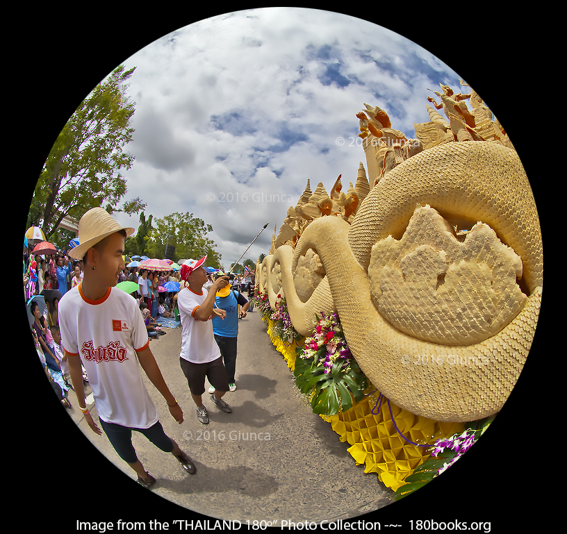
POLYGON ((256 265, 268 333, 313 411, 400 494, 450 465, 502 408, 541 304, 523 165, 474 90, 441 90, 414 139, 365 104, 368 177, 361 163, 356 184, 345 193, 339 176, 330 194, 308 180, 256 265))

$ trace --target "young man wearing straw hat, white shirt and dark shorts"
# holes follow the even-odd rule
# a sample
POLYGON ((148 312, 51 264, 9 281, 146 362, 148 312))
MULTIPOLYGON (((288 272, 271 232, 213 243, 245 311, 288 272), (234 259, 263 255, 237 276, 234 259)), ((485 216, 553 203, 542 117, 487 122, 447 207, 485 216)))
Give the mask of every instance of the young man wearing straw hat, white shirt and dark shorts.
POLYGON ((138 474, 138 483, 151 487, 156 479, 148 474, 131 442, 138 431, 162 451, 172 453, 188 473, 195 473, 192 460, 163 431, 158 412, 142 381, 140 367, 163 395, 176 422, 183 412, 149 349, 149 338, 135 300, 115 285, 124 269, 124 239, 134 232, 123 228, 102 208, 92 208, 79 221, 79 246, 69 252, 83 260, 85 274, 59 302, 59 326, 63 349, 79 408, 97 435, 85 403, 81 361, 94 395, 102 430, 128 465, 138 474), (138 363, 140 365, 138 365, 138 363))

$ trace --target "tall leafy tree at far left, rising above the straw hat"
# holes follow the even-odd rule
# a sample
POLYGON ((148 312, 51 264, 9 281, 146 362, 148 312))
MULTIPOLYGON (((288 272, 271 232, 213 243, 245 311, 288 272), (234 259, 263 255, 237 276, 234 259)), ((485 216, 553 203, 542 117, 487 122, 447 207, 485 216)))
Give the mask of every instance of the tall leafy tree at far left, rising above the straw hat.
POLYGON ((75 219, 90 208, 108 212, 139 212, 139 198, 119 203, 126 194, 121 169, 129 169, 133 156, 124 151, 132 140, 130 119, 134 104, 124 84, 133 69, 120 65, 99 83, 76 109, 58 135, 44 163, 31 202, 28 223, 38 226, 49 240, 63 217, 75 219))

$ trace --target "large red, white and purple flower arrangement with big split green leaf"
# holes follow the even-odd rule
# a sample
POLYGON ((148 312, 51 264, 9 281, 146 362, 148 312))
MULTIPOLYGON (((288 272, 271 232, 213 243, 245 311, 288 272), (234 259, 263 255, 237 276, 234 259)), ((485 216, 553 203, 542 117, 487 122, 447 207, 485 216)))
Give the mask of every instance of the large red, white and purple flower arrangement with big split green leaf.
POLYGON ((353 399, 363 399, 368 380, 348 348, 336 313, 317 319, 313 335, 296 349, 293 374, 299 391, 311 398, 314 413, 335 415, 352 408, 353 399))

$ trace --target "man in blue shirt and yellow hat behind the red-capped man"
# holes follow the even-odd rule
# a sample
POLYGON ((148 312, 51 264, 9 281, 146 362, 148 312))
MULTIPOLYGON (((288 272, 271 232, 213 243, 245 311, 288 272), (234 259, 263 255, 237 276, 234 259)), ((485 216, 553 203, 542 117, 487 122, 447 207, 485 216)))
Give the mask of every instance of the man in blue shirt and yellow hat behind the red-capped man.
MULTIPOLYGON (((215 278, 219 276, 227 276, 222 272, 216 272, 215 278)), ((227 378, 229 381, 229 390, 236 390, 236 381, 234 374, 236 372, 236 338, 238 336, 238 318, 243 319, 246 317, 246 310, 248 309, 249 302, 247 299, 236 290, 232 290, 230 283, 217 291, 215 297, 215 308, 220 308, 227 312, 227 317, 221 319, 213 315, 213 334, 215 341, 220 350, 224 367, 227 369, 227 378), (242 306, 240 313, 238 306, 242 306)), ((209 393, 213 393, 215 388, 213 386, 208 388, 209 393)))

